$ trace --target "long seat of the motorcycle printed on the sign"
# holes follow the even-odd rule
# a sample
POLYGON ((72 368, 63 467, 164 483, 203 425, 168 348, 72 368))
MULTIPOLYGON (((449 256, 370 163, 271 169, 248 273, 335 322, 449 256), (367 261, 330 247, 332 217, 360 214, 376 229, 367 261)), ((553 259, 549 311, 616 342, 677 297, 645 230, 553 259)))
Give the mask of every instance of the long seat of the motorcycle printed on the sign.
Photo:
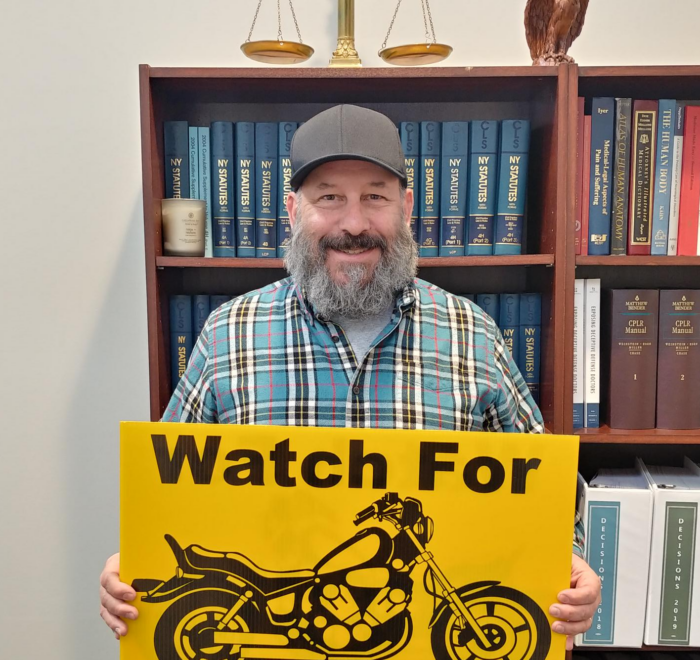
POLYGON ((190 546, 185 552, 188 562, 194 568, 230 573, 249 582, 266 595, 308 582, 316 577, 316 573, 308 569, 269 571, 238 552, 212 552, 198 545, 190 546))

